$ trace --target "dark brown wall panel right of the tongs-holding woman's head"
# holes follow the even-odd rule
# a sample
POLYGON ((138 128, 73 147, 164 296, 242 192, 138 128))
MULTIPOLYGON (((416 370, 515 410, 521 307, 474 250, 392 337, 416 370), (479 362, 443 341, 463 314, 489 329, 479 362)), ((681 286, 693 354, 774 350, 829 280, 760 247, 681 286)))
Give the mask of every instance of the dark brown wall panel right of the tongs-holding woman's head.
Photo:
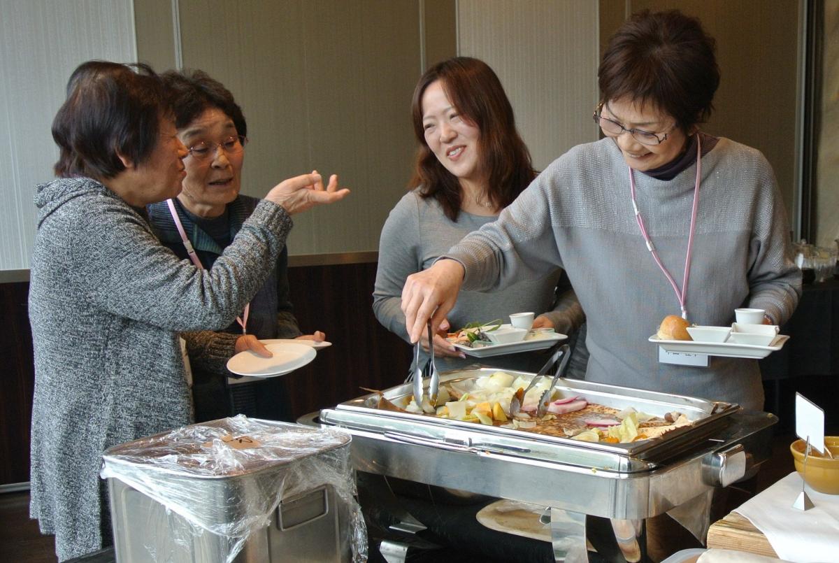
MULTIPOLYGON (((716 111, 703 128, 759 149, 778 178, 787 216, 793 220, 798 189, 796 163, 799 3, 792 0, 627 0, 602 9, 678 8, 701 19, 717 39, 721 81, 716 111)), ((616 25, 623 22, 610 18, 616 25)), ((613 29, 602 29, 611 35, 613 29)))

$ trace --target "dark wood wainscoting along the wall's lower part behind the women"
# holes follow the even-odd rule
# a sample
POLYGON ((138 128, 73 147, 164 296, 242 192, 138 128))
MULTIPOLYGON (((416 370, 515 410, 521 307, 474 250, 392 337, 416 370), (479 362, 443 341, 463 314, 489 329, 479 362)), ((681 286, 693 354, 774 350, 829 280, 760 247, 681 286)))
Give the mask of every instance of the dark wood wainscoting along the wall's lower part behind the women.
MULTIPOLYGON (((294 314, 305 332, 326 331, 332 346, 284 376, 294 418, 404 380, 410 348, 373 316, 376 263, 289 268, 294 314)), ((34 369, 29 283, 0 284, 0 485, 29 481, 34 369)))

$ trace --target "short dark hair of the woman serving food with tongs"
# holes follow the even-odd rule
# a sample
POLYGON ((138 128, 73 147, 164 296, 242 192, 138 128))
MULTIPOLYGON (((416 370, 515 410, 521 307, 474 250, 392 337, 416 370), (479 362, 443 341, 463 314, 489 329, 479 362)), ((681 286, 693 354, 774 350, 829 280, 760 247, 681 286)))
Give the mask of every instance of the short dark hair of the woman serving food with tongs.
POLYGON ((713 111, 720 84, 716 45, 697 18, 679 10, 633 13, 603 53, 602 101, 651 103, 687 133, 713 111))

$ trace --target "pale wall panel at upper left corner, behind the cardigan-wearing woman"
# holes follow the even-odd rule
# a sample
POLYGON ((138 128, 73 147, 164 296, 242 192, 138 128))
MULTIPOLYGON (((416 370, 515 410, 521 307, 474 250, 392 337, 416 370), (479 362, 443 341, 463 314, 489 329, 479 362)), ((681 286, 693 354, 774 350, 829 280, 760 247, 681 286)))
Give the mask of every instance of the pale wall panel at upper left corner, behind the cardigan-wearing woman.
POLYGON ((85 60, 133 60, 133 14, 129 0, 0 0, 0 14, 0 270, 27 269, 67 79, 85 60))

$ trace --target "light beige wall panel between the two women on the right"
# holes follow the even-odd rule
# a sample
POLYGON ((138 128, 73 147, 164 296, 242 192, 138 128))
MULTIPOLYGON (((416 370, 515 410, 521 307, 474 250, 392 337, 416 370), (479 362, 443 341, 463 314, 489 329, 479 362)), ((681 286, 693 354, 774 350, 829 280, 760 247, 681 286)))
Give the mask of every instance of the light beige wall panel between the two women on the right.
POLYGON ((460 0, 457 21, 459 53, 496 71, 537 169, 597 139, 597 3, 460 0))

